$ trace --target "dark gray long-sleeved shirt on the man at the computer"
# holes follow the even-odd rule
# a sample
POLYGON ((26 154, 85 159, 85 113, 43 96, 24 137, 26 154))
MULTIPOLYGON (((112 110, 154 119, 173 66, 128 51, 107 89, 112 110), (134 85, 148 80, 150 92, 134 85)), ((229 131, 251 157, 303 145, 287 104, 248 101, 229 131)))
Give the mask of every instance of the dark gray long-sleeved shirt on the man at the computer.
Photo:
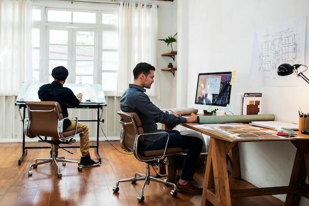
MULTIPOLYGON (((124 112, 136 112, 142 122, 144 133, 159 132, 156 122, 168 125, 178 125, 185 123, 185 117, 175 116, 163 112, 155 106, 145 94, 146 90, 138 85, 129 84, 129 88, 120 98, 120 108, 124 112)), ((164 135, 148 135, 140 144, 139 149, 146 149, 154 141, 159 140, 164 135)))

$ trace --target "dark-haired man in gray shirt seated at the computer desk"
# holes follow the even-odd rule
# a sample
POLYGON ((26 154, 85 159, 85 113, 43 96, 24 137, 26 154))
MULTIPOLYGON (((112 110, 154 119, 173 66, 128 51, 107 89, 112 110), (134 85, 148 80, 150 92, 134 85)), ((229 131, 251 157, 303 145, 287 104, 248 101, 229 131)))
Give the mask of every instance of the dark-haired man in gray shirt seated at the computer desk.
MULTIPOLYGON (((196 122, 197 115, 188 118, 181 117, 179 113, 169 114, 155 106, 145 94, 145 88, 150 89, 154 82, 155 68, 147 63, 139 63, 133 69, 134 82, 120 98, 120 108, 124 112, 136 112, 142 122, 144 133, 155 133, 156 122, 169 125, 178 125, 185 122, 196 122)), ((173 155, 176 170, 177 191, 189 193, 202 193, 202 188, 194 186, 191 182, 195 171, 197 159, 203 147, 203 140, 198 137, 181 135, 178 131, 169 132, 168 147, 182 147, 188 149, 188 155, 183 163, 180 155, 173 155)), ((167 135, 147 135, 140 142, 139 150, 163 149, 167 135)))

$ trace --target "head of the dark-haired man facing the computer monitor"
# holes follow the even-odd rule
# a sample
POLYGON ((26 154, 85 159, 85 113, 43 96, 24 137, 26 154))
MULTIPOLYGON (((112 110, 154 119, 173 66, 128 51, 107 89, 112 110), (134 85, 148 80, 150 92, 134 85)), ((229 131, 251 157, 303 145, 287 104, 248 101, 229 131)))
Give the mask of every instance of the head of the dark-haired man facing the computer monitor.
POLYGON ((154 82, 154 66, 148 63, 139 63, 133 69, 134 84, 150 89, 154 82))

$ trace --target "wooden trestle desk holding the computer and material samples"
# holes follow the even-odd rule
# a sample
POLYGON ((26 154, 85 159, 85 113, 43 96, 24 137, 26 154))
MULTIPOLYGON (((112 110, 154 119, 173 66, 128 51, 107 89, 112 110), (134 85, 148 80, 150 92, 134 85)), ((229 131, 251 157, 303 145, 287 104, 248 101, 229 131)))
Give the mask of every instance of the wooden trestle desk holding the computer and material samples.
POLYGON ((232 206, 231 198, 287 194, 285 206, 298 206, 301 196, 309 198, 309 137, 298 132, 303 139, 294 138, 255 138, 234 139, 218 131, 193 127, 197 123, 184 123, 183 126, 210 136, 206 171, 203 184, 201 206, 232 206), (226 154, 237 142, 251 141, 291 141, 297 148, 294 166, 288 186, 230 190, 226 154))

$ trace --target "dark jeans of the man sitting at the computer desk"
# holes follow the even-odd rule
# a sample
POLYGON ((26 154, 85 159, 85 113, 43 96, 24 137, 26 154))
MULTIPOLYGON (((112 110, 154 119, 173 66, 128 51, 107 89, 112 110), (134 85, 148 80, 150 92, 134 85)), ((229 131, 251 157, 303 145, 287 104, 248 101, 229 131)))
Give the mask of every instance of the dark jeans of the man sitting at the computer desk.
MULTIPOLYGON (((188 154, 183 162, 181 155, 173 155, 175 170, 183 169, 180 178, 183 180, 192 180, 195 172, 197 159, 203 148, 203 140, 198 137, 180 135, 178 131, 166 131, 169 133, 169 142, 167 148, 182 147, 188 149, 188 154)), ((167 135, 154 142, 147 150, 164 149, 167 135)))

